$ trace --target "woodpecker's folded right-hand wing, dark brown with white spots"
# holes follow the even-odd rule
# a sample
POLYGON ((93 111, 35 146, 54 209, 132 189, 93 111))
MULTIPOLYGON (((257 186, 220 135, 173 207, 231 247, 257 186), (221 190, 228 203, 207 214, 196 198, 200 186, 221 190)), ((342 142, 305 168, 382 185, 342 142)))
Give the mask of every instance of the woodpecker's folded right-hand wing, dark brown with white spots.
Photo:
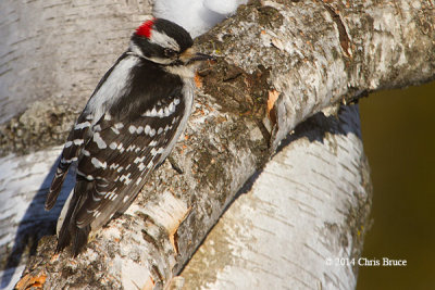
POLYGON ((177 92, 164 103, 144 109, 135 119, 125 123, 102 118, 95 126, 97 130, 84 147, 77 167, 77 184, 91 184, 87 192, 75 192, 86 196, 76 210, 77 227, 91 224, 97 229, 136 198, 148 174, 172 149, 167 146, 185 113, 181 91, 177 92))

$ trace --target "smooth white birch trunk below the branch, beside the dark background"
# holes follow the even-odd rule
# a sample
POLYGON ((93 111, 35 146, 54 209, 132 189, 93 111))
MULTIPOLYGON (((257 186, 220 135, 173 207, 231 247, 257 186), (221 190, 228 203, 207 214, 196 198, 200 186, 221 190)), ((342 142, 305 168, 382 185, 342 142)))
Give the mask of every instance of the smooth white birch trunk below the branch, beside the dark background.
POLYGON ((185 289, 356 287, 372 193, 358 105, 283 143, 184 268, 185 289))

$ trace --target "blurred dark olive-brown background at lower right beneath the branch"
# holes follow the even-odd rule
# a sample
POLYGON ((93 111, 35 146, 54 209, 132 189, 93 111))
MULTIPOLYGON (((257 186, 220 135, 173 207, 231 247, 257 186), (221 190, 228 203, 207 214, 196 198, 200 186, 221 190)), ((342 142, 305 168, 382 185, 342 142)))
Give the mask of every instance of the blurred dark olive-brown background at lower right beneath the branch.
MULTIPOLYGON (((435 81, 360 101, 373 180, 363 257, 406 267, 360 267, 358 290, 435 289, 435 81)), ((382 263, 382 262, 381 262, 382 263)))

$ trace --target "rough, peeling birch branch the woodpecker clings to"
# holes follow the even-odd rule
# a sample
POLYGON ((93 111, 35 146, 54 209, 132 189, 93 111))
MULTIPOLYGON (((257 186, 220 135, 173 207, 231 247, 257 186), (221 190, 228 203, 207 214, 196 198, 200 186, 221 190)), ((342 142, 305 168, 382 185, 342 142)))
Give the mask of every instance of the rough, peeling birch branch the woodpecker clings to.
POLYGON ((184 175, 164 165, 74 261, 52 256, 55 238, 42 239, 22 281, 44 278, 59 289, 170 283, 297 124, 372 90, 434 78, 433 20, 430 1, 241 7, 198 41, 224 59, 201 72, 203 93, 174 150, 184 175))

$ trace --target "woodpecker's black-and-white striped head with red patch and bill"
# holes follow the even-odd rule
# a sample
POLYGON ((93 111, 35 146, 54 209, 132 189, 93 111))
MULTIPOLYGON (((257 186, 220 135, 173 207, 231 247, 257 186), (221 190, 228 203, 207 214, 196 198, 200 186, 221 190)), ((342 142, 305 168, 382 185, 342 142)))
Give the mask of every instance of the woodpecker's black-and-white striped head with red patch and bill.
POLYGON ((167 66, 185 66, 196 61, 213 59, 197 53, 194 40, 182 26, 153 18, 140 25, 132 36, 129 50, 140 58, 167 66))

